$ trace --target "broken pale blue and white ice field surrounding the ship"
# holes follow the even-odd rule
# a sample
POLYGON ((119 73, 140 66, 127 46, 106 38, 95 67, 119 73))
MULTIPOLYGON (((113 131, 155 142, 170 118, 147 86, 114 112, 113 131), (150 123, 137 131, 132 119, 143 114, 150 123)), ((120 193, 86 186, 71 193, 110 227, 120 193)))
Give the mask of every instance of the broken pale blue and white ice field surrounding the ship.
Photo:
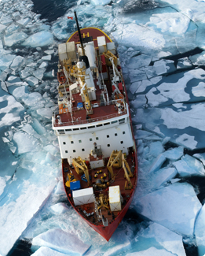
POLYGON ((204 207, 186 183, 204 176, 205 2, 161 5, 79 0, 49 23, 32 11, 30 0, 0 2, 2 256, 19 239, 30 239, 33 255, 44 256, 86 250, 184 256, 182 239, 205 254, 204 207), (57 103, 52 64, 57 44, 73 32, 67 17, 74 9, 82 28, 101 28, 119 46, 137 143, 138 184, 130 206, 136 214, 128 213, 108 243, 65 203, 51 128, 57 103))

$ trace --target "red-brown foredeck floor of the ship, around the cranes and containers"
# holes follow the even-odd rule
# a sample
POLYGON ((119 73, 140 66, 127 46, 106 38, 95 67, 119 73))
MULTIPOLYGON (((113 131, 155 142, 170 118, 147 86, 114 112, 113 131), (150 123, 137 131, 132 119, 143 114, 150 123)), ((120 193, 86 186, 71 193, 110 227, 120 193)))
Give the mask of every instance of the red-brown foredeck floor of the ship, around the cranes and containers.
MULTIPOLYGON (((126 203, 129 201, 129 199, 131 198, 132 193, 134 192, 134 187, 136 186, 137 183, 137 173, 136 173, 136 166, 135 166, 135 157, 134 157, 134 151, 131 152, 130 154, 128 154, 126 156, 126 161, 128 163, 128 165, 130 166, 130 169, 132 170, 133 173, 133 177, 130 177, 131 183, 133 185, 132 189, 126 189, 125 188, 125 183, 126 183, 126 178, 124 175, 124 169, 123 167, 119 168, 119 169, 115 169, 113 168, 113 172, 115 174, 115 180, 112 182, 111 181, 111 176, 108 172, 107 167, 104 168, 100 168, 100 169, 90 169, 89 174, 91 177, 91 184, 90 187, 93 187, 94 184, 96 184, 97 179, 99 179, 101 176, 103 176, 103 174, 106 174, 105 180, 108 180, 110 182, 109 186, 118 186, 120 188, 120 194, 123 197, 123 204, 122 204, 122 210, 120 211, 113 211, 111 212, 110 210, 106 210, 104 207, 101 207, 101 214, 105 219, 108 219, 108 224, 111 224, 112 221, 115 221, 115 218, 118 217, 119 213, 121 213, 123 211, 123 209, 126 207, 126 203), (96 177, 95 174, 97 173, 97 171, 101 170, 102 173, 99 174, 96 177)), ((107 166, 108 164, 108 158, 104 159, 104 166, 107 166)), ((66 178, 68 176, 68 173, 71 171, 72 174, 75 176, 76 180, 80 180, 80 184, 81 184, 81 189, 83 188, 87 188, 88 185, 86 183, 86 181, 81 179, 81 176, 79 176, 78 173, 75 172, 74 168, 71 168, 70 165, 68 165, 68 161, 67 159, 64 159, 63 161, 63 176, 64 176, 64 184, 66 183, 66 178)), ((85 204, 82 206, 75 206, 73 199, 71 197, 71 190, 69 187, 65 186, 65 191, 66 194, 68 196, 69 201, 71 202, 71 205, 75 208, 75 210, 78 211, 78 213, 80 215, 82 215, 82 217, 84 217, 86 219, 86 221, 89 221, 91 224, 94 225, 101 225, 102 226, 102 222, 97 220, 97 216, 95 213, 95 206, 94 203, 89 203, 89 204, 85 204), (90 216, 88 216, 90 213, 90 216), (94 213, 94 214, 92 214, 94 213)), ((107 198, 109 198, 108 196, 108 187, 106 188, 101 188, 101 189, 94 189, 94 194, 95 197, 97 198, 100 194, 104 194, 107 196, 107 198)))

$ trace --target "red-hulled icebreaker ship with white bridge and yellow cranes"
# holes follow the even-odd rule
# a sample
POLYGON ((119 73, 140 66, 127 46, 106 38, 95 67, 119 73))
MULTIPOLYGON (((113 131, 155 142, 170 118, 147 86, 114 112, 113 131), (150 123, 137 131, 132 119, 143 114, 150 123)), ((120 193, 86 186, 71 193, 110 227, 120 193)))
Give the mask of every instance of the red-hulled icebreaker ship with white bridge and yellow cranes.
POLYGON ((58 46, 59 140, 71 206, 109 240, 137 184, 137 153, 115 43, 98 28, 79 29, 58 46))

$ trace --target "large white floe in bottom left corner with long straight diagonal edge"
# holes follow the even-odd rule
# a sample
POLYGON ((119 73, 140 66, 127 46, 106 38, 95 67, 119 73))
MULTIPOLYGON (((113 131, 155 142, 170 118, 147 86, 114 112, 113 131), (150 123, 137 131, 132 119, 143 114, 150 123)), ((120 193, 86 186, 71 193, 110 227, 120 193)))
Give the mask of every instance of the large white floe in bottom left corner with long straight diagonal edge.
MULTIPOLYGON (((15 201, 7 202, 0 207, 0 254, 5 256, 13 247, 13 244, 21 236, 24 229, 35 217, 35 213, 44 205, 49 197, 53 187, 55 187, 55 179, 47 178, 42 174, 44 186, 40 183, 30 184, 28 180, 23 183, 24 191, 21 192, 15 201)), ((11 192, 11 191, 10 191, 11 192)), ((13 191, 14 192, 14 191, 13 191)))

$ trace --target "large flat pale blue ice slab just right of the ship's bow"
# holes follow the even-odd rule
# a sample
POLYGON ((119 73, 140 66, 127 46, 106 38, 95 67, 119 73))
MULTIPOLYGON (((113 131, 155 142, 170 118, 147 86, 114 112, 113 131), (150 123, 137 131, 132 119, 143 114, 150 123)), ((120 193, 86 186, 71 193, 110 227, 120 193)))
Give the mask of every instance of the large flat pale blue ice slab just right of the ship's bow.
POLYGON ((178 234, 193 236, 201 203, 190 184, 171 184, 134 202, 137 213, 178 234))

